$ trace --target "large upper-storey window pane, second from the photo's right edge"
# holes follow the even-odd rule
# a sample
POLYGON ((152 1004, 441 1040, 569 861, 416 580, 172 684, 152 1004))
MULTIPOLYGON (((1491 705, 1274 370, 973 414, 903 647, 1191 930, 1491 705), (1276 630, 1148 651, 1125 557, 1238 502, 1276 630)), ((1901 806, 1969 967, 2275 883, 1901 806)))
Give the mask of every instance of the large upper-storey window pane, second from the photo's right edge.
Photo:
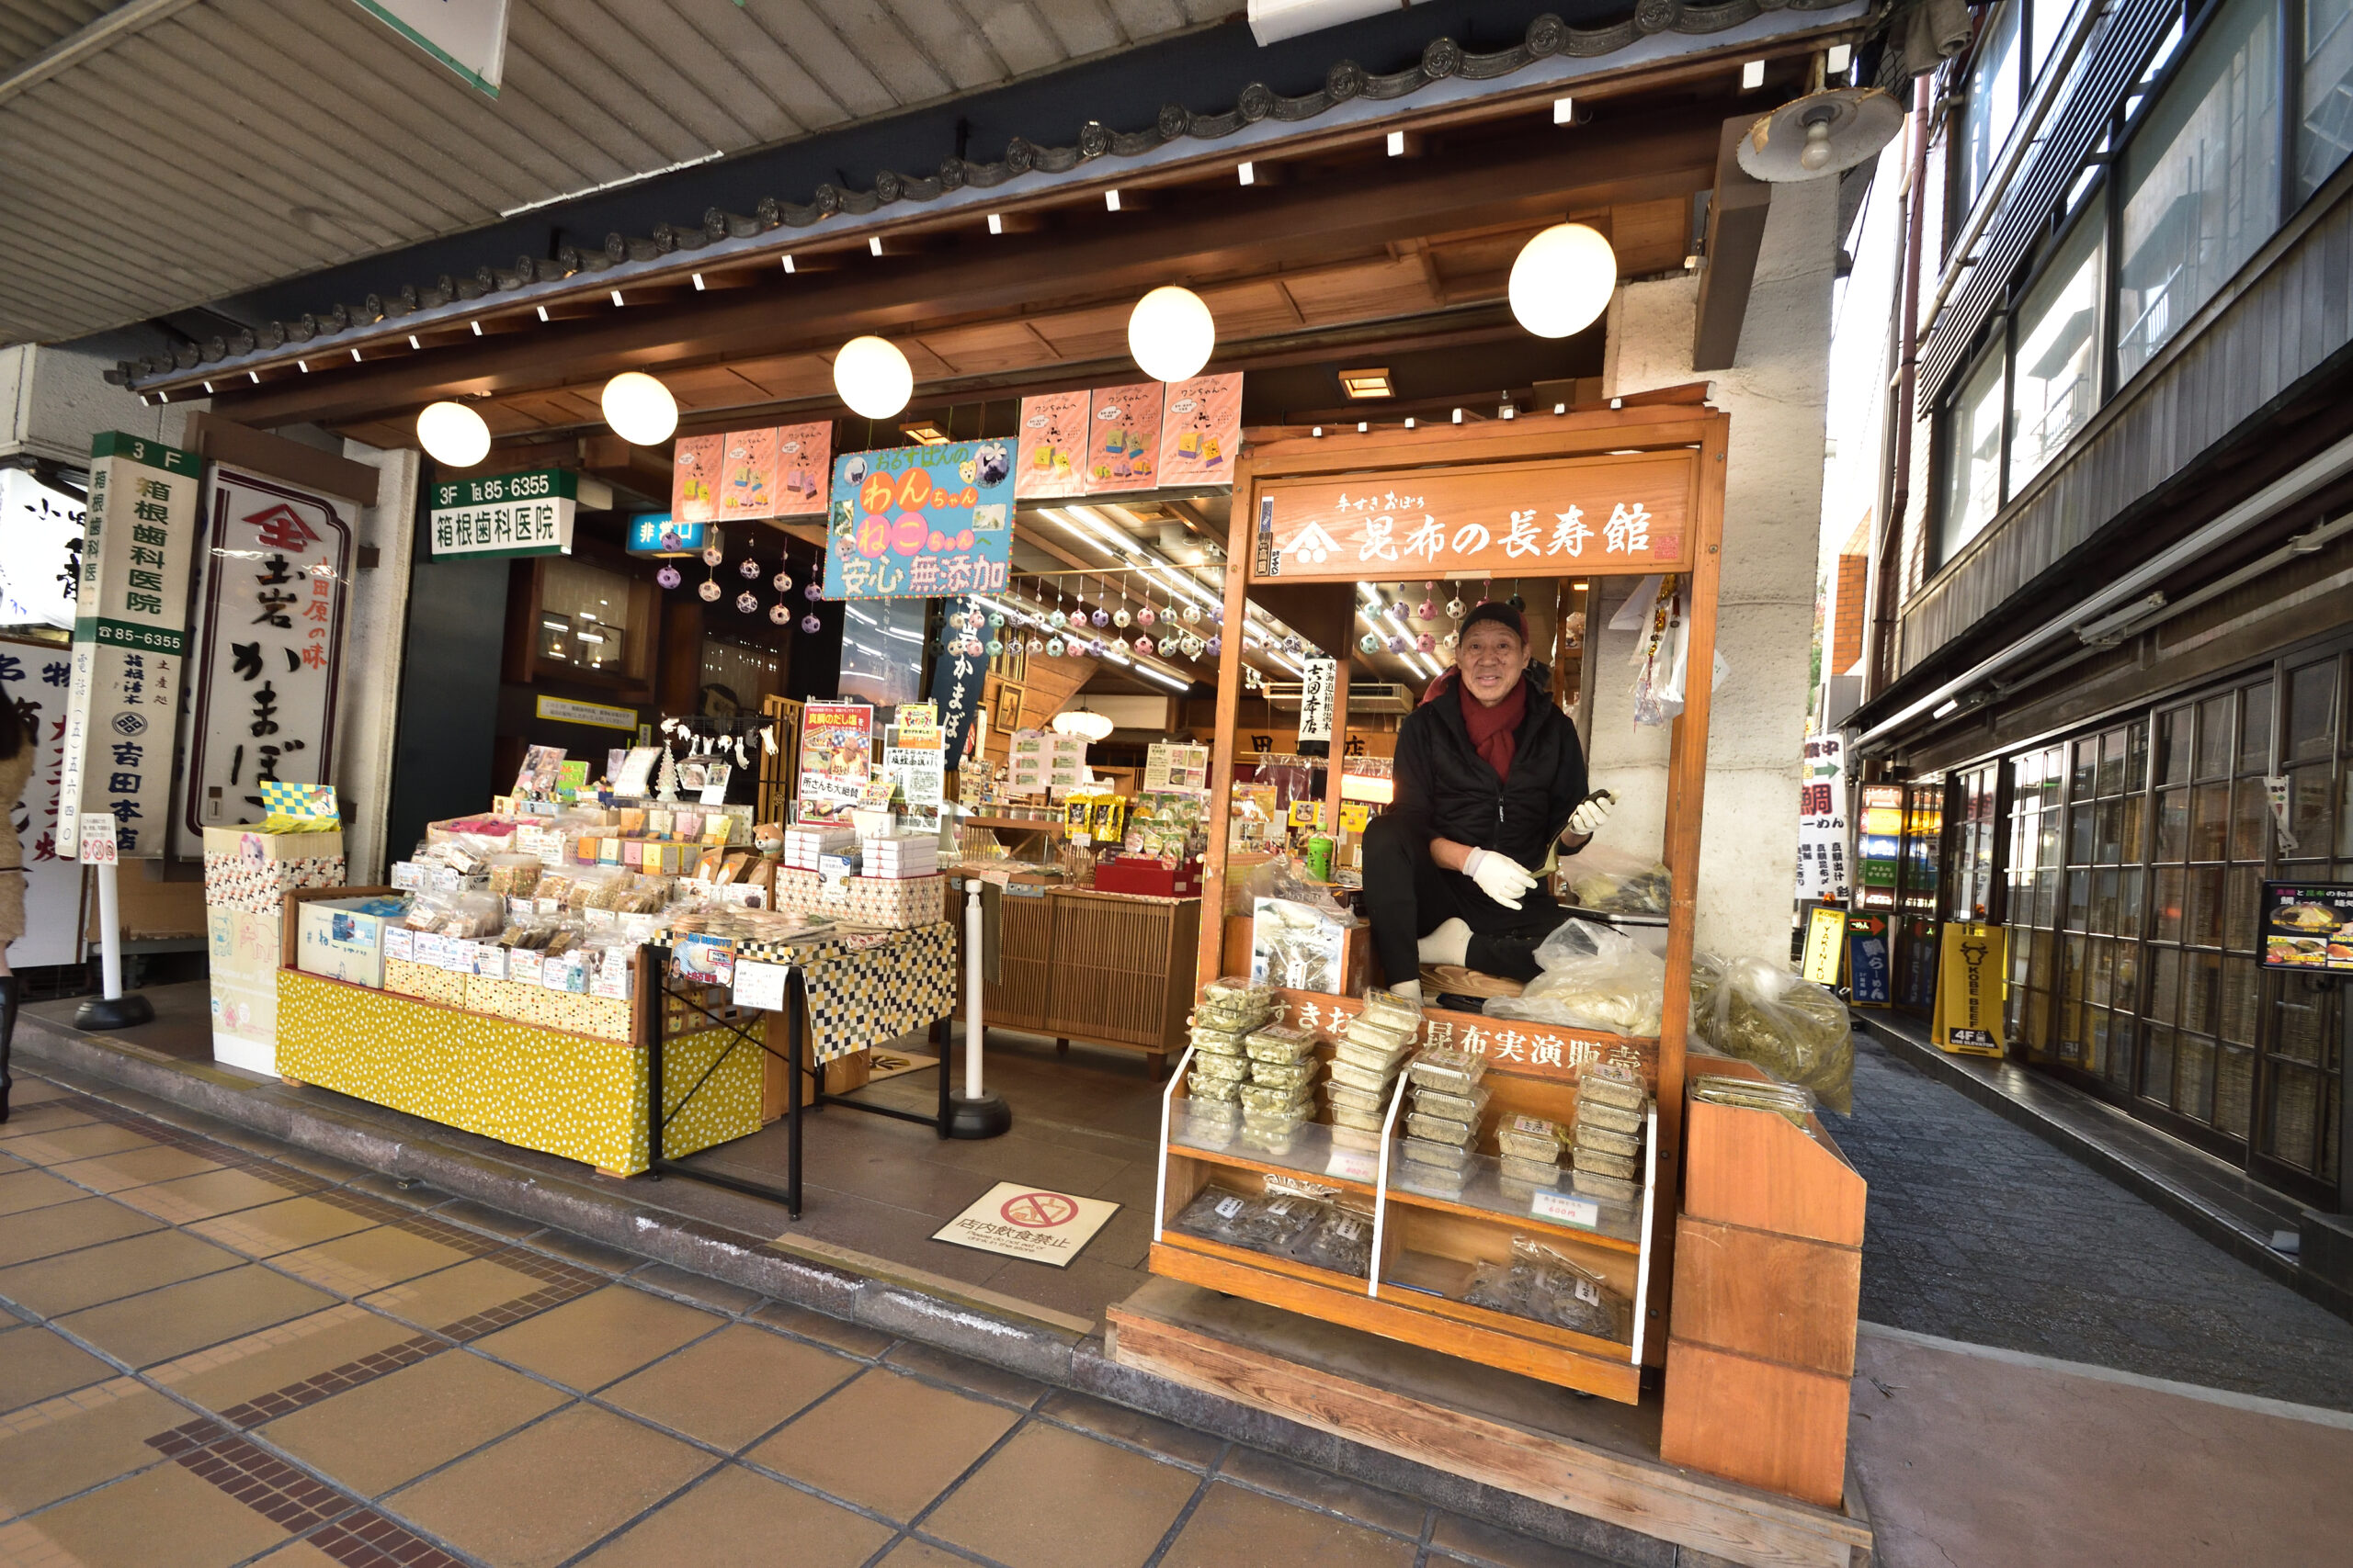
POLYGON ((2226 0, 2125 148, 2118 381, 2278 228, 2278 9, 2226 0))

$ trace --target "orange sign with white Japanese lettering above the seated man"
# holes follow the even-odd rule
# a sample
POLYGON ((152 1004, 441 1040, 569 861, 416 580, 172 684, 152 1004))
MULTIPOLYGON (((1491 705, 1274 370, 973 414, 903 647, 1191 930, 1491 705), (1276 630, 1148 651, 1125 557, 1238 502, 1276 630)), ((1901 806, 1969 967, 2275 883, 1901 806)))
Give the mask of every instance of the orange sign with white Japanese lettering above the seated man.
POLYGON ((1673 571, 1689 564, 1692 480, 1689 451, 1271 480, 1249 576, 1673 571))

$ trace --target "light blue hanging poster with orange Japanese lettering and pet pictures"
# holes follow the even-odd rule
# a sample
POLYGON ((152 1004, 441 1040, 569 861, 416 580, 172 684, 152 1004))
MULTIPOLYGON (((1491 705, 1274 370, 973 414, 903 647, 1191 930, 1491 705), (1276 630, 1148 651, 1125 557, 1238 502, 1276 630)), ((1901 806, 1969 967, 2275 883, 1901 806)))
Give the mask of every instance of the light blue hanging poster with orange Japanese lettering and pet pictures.
POLYGON ((845 451, 826 522, 828 599, 1002 590, 1014 456, 1000 440, 845 451))

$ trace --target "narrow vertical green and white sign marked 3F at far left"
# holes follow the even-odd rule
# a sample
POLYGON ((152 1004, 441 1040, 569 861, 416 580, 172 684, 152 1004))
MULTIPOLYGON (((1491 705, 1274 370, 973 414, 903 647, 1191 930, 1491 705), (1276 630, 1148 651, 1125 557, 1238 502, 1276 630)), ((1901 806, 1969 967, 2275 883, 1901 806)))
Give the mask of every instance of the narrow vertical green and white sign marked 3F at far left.
POLYGON ((85 811, 113 813, 125 860, 162 853, 200 468, 193 451, 120 430, 89 442, 66 769, 56 792, 61 858, 80 858, 85 811))

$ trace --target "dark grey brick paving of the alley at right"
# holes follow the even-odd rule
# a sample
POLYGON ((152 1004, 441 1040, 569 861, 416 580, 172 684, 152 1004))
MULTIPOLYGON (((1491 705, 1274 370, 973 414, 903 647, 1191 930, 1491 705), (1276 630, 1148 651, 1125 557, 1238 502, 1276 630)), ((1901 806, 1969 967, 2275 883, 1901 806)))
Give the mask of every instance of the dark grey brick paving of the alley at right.
POLYGON ((1854 1037, 1864 1319, 2353 1410, 2353 1324, 1854 1037))

